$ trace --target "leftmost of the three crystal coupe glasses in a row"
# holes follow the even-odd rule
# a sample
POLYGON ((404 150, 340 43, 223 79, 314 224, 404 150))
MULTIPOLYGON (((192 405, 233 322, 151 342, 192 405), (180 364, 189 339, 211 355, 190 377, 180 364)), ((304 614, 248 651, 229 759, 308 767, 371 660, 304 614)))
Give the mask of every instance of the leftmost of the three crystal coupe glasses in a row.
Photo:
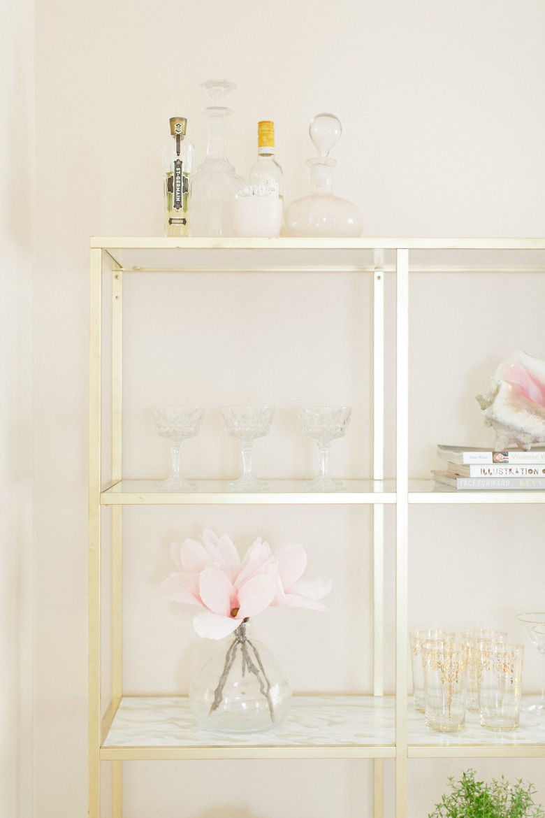
POLYGON ((152 410, 155 432, 170 440, 172 474, 156 488, 160 492, 189 492, 194 483, 180 475, 180 449, 182 441, 194 437, 203 420, 203 407, 158 407, 152 410))

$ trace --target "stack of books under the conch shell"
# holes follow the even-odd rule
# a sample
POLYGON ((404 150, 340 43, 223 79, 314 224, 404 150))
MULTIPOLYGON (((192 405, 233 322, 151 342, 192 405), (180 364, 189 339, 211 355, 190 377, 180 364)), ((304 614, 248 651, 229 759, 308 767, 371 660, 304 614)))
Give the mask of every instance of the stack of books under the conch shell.
POLYGON ((545 488, 545 447, 522 449, 492 449, 471 446, 437 447, 437 456, 444 469, 432 470, 436 489, 526 489, 545 488))

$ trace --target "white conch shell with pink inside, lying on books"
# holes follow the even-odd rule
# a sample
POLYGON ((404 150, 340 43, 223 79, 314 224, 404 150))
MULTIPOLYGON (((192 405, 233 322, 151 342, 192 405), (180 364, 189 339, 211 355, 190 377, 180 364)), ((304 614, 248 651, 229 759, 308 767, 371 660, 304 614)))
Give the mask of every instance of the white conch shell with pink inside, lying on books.
POLYGON ((545 362, 523 352, 503 361, 490 392, 477 395, 485 424, 496 433, 495 449, 508 446, 528 450, 545 443, 545 362))

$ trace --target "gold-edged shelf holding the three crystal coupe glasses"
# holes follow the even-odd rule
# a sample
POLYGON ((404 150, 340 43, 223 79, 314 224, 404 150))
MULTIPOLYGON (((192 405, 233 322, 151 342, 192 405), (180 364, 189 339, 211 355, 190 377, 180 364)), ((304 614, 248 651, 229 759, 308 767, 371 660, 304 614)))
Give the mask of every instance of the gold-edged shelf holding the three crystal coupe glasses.
POLYGON ((395 503, 394 480, 345 480, 344 492, 309 492, 306 480, 270 480, 266 492, 233 492, 226 480, 197 480, 194 492, 159 492, 157 480, 121 480, 101 492, 103 506, 395 503))

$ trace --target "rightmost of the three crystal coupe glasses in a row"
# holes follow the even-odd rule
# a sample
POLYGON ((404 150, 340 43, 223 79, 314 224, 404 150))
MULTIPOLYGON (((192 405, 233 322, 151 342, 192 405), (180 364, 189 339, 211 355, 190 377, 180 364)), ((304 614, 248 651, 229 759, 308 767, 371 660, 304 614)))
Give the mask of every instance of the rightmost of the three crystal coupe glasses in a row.
POLYGON ((343 483, 329 477, 329 448, 331 441, 342 438, 351 419, 351 407, 301 407, 297 411, 304 434, 318 441, 318 477, 307 483, 310 491, 342 492, 343 483))

